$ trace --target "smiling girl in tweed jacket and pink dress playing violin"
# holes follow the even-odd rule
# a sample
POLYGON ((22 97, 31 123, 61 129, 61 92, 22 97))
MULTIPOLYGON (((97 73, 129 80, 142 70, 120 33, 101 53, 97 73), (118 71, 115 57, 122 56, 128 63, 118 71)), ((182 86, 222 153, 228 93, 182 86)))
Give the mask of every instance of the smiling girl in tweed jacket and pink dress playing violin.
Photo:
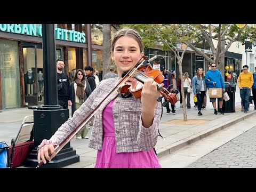
MULTIPOLYGON (((111 42, 111 59, 117 67, 117 78, 102 80, 90 97, 78 108, 73 118, 59 127, 50 138, 38 146, 38 163, 50 161, 54 147, 65 139, 84 118, 113 90, 124 72, 129 71, 143 56, 143 45, 137 31, 124 28, 111 42)), ((148 167, 161 165, 154 152, 161 118, 161 102, 153 78, 148 78, 142 88, 141 98, 122 98, 114 93, 102 102, 94 115, 89 147, 98 150, 95 167, 148 167)))

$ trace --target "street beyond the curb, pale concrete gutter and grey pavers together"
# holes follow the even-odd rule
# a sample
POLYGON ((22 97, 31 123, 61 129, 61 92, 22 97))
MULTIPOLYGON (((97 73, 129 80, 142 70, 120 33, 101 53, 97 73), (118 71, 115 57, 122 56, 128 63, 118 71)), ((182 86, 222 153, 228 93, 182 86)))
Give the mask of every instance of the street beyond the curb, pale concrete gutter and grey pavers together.
POLYGON ((255 139, 251 138, 255 137, 255 134, 251 132, 251 129, 254 129, 255 126, 254 115, 175 150, 171 154, 164 155, 159 158, 159 162, 163 168, 233 167, 235 165, 233 163, 239 163, 239 166, 236 165, 236 167, 253 167, 255 163, 253 164, 252 160, 255 158, 255 154, 252 148, 255 146, 255 139), (243 137, 243 140, 238 139, 239 135, 247 134, 249 131, 249 137, 243 137), (226 143, 228 143, 226 147, 228 150, 225 153, 218 153, 216 150, 226 146, 226 143), (249 154, 250 152, 251 154, 249 154), (240 159, 239 162, 236 159, 240 159), (240 162, 243 162, 243 165, 240 162))

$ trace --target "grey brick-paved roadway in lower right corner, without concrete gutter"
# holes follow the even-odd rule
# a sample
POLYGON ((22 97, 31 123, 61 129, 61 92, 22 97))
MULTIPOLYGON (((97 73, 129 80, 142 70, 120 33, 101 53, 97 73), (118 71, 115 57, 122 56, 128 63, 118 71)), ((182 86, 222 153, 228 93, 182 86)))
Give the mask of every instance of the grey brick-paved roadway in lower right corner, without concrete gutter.
POLYGON ((255 168, 256 126, 238 135, 187 168, 255 168))

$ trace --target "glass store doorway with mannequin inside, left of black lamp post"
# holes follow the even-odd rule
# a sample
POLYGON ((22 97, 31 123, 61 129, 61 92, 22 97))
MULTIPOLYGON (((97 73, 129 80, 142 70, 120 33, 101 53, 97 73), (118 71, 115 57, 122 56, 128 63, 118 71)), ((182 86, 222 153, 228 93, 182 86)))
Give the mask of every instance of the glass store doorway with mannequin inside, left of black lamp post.
MULTIPOLYGON (((37 106, 39 83, 37 81, 37 51, 36 45, 23 46, 24 81, 25 81, 25 105, 37 106)), ((41 71, 42 73, 42 71, 41 71)))

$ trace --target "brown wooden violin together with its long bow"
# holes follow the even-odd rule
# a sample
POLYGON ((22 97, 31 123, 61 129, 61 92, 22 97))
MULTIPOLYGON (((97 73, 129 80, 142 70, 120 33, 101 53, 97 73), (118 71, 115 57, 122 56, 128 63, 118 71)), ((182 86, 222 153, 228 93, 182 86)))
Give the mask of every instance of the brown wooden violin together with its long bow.
MULTIPOLYGON (((83 127, 90 121, 90 119, 94 116, 95 113, 99 110, 102 103, 112 96, 112 94, 119 93, 123 95, 122 97, 127 97, 127 95, 134 95, 135 98, 141 98, 141 92, 143 88, 143 83, 148 78, 154 78, 154 81, 157 83, 157 90, 163 95, 159 97, 157 101, 162 101, 164 97, 168 102, 171 102, 173 105, 177 102, 176 93, 170 93, 167 89, 161 86, 159 83, 164 81, 164 76, 161 74, 160 70, 153 69, 150 65, 150 61, 156 59, 157 57, 153 57, 149 60, 146 60, 146 56, 142 56, 140 60, 126 73, 122 74, 122 78, 118 80, 116 86, 111 90, 107 96, 96 106, 91 113, 84 117, 84 120, 73 130, 71 133, 67 135, 67 137, 59 143, 57 147, 54 148, 55 155, 59 153, 59 151, 67 145, 67 143, 75 137, 75 135, 79 132, 79 130, 83 129, 83 127), (142 60, 142 61, 141 61, 142 60)), ((164 105, 164 104, 163 104, 164 105)), ((52 154, 49 154, 52 159, 52 154)), ((46 161, 49 163, 49 161, 46 161)), ((41 161, 36 168, 39 168, 44 163, 41 161)))

